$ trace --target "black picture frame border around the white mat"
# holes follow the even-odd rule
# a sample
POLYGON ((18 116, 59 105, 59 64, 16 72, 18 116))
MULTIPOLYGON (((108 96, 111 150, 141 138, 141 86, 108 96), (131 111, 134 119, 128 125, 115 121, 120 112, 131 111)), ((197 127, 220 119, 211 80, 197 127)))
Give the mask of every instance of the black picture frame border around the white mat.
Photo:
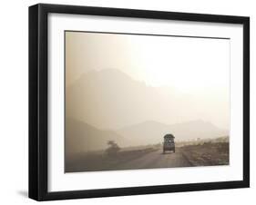
POLYGON ((29 7, 29 198, 67 200, 250 187, 250 18, 76 5, 29 7), (100 190, 47 190, 47 16, 50 13, 122 16, 243 25, 243 180, 100 190))

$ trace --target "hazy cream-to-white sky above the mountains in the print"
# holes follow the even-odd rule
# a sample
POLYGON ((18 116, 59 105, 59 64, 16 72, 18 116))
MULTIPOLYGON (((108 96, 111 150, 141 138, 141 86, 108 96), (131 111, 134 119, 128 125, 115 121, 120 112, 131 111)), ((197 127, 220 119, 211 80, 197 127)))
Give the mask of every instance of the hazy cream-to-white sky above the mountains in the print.
POLYGON ((209 119, 229 126, 230 40, 66 33, 67 87, 83 73, 104 69, 117 69, 148 86, 200 96, 202 104, 216 101, 218 111, 209 119))

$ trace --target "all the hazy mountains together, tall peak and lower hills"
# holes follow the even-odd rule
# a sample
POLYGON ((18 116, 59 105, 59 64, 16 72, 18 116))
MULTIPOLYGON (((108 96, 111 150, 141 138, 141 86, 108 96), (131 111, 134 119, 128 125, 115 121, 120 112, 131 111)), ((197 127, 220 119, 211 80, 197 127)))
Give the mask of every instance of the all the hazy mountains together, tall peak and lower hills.
POLYGON ((159 143, 166 133, 177 141, 228 135, 209 120, 218 115, 214 96, 203 101, 115 69, 84 73, 66 89, 66 151, 106 149, 109 140, 121 147, 159 143))

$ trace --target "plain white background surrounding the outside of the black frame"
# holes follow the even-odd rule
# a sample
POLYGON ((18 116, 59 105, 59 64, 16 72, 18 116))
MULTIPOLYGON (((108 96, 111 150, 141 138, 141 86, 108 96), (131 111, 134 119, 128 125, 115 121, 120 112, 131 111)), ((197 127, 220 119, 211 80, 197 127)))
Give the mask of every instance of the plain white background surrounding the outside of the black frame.
MULTIPOLYGON (((27 195, 28 158, 28 5, 37 1, 2 1, 0 32, 0 203, 33 204, 27 195)), ((256 193, 255 38, 256 4, 243 0, 91 0, 43 1, 51 4, 95 5, 216 15, 251 16, 251 189, 210 190, 89 200, 51 201, 55 204, 252 204, 256 193), (254 78, 254 79, 253 79, 254 78)))

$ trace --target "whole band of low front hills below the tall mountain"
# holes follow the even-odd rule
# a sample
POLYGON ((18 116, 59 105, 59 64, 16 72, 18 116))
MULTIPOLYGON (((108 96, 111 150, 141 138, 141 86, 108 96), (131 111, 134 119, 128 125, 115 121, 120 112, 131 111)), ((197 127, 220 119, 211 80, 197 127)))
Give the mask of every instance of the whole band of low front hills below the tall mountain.
POLYGON ((105 150, 108 146, 108 141, 117 142, 120 147, 160 143, 167 133, 172 133, 176 138, 175 140, 179 142, 197 138, 217 138, 229 134, 210 122, 203 121, 171 125, 148 121, 117 131, 110 131, 97 129, 85 122, 67 119, 65 144, 67 153, 97 151, 105 150))

